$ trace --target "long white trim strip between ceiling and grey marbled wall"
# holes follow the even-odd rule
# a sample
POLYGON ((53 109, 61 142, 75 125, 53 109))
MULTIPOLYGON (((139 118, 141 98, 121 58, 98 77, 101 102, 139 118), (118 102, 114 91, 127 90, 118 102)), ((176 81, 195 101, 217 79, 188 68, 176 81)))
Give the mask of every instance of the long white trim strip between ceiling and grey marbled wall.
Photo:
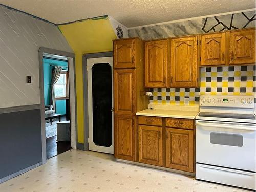
POLYGON ((135 26, 135 27, 127 27, 127 29, 129 30, 129 29, 136 29, 136 28, 150 27, 150 26, 164 25, 164 24, 171 24, 171 23, 177 23, 177 22, 186 22, 187 20, 203 19, 203 18, 207 18, 207 17, 217 17, 217 16, 222 16, 222 15, 249 12, 249 11, 255 11, 255 10, 256 9, 253 8, 253 9, 245 9, 245 10, 240 10, 240 11, 231 11, 231 12, 226 12, 226 13, 204 15, 204 16, 200 16, 200 17, 191 17, 191 18, 184 18, 184 19, 178 19, 178 20, 170 20, 168 22, 160 22, 160 23, 148 24, 148 25, 142 25, 142 26, 135 26))

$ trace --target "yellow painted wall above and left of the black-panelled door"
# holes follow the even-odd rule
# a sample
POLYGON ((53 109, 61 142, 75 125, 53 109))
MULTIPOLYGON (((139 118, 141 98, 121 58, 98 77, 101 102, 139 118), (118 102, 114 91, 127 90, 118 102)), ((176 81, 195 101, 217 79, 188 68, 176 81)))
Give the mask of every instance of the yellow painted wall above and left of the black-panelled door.
POLYGON ((108 18, 88 19, 58 27, 76 54, 77 132, 78 142, 84 143, 82 55, 112 51, 112 40, 116 35, 108 18))

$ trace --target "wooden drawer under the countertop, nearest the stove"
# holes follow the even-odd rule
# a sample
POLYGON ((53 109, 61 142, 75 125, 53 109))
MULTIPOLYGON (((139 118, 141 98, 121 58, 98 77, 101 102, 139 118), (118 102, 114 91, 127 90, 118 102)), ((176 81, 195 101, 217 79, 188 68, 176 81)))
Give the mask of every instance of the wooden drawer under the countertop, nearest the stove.
POLYGON ((166 118, 166 127, 194 129, 194 119, 166 118))

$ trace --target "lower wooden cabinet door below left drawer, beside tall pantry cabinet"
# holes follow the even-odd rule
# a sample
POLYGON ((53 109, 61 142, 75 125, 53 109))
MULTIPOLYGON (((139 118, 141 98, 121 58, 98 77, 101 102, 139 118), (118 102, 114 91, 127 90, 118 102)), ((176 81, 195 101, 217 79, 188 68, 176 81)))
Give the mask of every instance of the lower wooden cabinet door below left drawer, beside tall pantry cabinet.
POLYGON ((163 166, 162 127, 139 125, 139 162, 163 166))

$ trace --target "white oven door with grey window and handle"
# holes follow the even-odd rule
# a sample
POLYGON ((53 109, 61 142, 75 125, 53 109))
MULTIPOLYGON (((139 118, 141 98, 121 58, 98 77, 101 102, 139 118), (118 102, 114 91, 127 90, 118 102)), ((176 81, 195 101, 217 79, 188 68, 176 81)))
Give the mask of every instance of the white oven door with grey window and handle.
POLYGON ((196 120, 196 162, 255 172, 255 124, 196 120))

